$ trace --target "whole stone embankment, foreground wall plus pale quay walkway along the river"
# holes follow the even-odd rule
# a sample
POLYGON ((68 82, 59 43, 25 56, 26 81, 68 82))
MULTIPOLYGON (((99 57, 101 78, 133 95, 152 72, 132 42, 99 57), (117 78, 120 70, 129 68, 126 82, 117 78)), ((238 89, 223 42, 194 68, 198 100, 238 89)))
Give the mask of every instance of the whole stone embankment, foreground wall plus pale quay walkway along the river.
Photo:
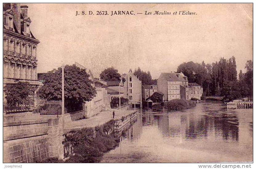
MULTIPOLYGON (((77 113, 76 113, 77 114, 77 113)), ((119 130, 136 116, 137 110, 127 107, 99 112, 89 119, 73 120, 80 117, 65 117, 64 129, 62 120, 56 115, 38 115, 33 113, 15 113, 4 117, 3 146, 4 163, 35 163, 51 157, 64 158, 65 134, 82 128, 95 128, 114 120, 114 129, 119 130), (113 111, 115 118, 113 119, 113 111)), ((82 116, 82 115, 81 115, 82 116)))

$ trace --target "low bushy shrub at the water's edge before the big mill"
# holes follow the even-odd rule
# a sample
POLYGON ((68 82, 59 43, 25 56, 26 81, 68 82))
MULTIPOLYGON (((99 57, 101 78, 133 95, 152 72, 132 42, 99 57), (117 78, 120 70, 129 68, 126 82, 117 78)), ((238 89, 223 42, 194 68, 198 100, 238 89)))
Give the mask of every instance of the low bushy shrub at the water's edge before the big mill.
POLYGON ((164 107, 168 110, 182 110, 194 106, 196 103, 193 100, 174 99, 166 102, 164 107))

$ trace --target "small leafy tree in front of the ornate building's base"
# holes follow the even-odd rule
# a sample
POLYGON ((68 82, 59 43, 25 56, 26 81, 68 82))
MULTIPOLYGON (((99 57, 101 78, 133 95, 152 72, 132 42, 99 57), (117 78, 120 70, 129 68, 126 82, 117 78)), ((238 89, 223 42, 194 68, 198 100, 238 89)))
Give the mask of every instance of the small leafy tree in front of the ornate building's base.
POLYGON ((24 104, 29 100, 29 95, 34 93, 34 88, 28 82, 7 84, 5 89, 8 104, 24 104))

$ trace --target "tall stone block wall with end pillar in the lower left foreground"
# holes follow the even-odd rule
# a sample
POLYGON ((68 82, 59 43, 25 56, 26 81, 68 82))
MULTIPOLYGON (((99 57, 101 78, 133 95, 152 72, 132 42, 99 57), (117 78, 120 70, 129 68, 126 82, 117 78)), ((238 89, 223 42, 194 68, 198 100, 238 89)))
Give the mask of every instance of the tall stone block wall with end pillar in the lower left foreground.
POLYGON ((3 124, 3 162, 35 163, 63 158, 59 119, 23 120, 3 124))

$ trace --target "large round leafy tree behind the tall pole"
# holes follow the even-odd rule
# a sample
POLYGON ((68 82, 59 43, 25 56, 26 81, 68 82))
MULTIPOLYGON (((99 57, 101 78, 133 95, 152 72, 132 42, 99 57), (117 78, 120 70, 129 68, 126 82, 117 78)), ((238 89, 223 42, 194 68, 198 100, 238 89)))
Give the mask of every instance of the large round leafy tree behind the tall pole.
MULTIPOLYGON (((92 81, 86 69, 75 65, 64 67, 64 98, 65 106, 77 106, 90 101, 96 96, 92 81)), ((53 69, 46 74, 43 86, 39 88, 38 95, 46 100, 61 100, 62 98, 62 68, 53 69)))

